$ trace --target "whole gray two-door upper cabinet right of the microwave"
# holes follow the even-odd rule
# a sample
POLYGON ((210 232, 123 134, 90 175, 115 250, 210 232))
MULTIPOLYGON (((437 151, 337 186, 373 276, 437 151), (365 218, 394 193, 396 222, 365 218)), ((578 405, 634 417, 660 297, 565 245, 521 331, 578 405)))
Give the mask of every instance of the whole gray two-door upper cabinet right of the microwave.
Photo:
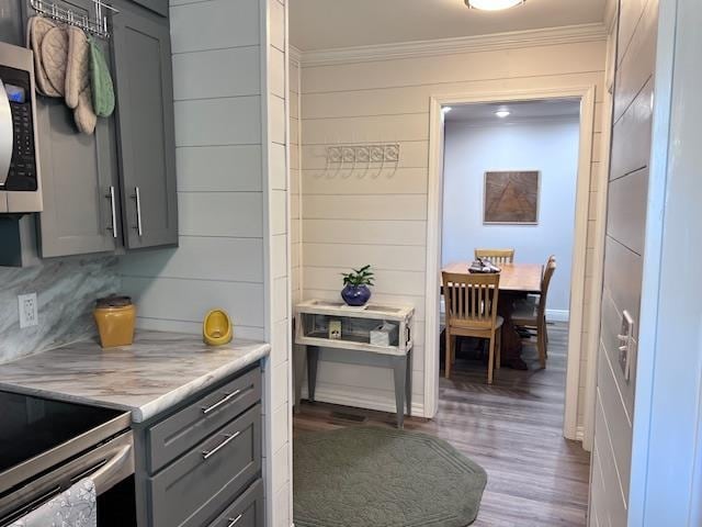
MULTIPOLYGON (((92 0, 54 2, 77 19, 94 16, 92 0)), ((111 66, 114 114, 87 135, 64 99, 37 97, 44 211, 36 231, 45 258, 178 245, 168 0, 112 3, 111 37, 94 40, 111 66)), ((31 0, 0 0, 0 40, 24 45, 36 14, 31 0)))

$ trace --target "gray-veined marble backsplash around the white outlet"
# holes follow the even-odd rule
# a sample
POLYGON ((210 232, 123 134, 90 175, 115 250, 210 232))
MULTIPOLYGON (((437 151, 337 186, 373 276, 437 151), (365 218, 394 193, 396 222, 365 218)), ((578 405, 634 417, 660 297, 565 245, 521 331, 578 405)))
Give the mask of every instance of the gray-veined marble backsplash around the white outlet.
POLYGON ((115 257, 45 260, 0 268, 0 363, 97 334, 94 300, 120 290, 115 257), (36 293, 38 326, 20 329, 18 294, 36 293))

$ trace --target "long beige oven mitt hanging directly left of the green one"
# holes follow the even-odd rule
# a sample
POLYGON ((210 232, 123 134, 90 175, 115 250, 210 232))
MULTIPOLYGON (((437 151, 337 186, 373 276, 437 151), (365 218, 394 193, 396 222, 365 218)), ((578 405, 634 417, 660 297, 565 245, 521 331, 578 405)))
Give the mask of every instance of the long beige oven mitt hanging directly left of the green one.
POLYGON ((90 43, 78 27, 68 27, 68 58, 66 64, 66 104, 73 109, 76 125, 84 134, 92 134, 98 116, 92 108, 90 88, 90 43))

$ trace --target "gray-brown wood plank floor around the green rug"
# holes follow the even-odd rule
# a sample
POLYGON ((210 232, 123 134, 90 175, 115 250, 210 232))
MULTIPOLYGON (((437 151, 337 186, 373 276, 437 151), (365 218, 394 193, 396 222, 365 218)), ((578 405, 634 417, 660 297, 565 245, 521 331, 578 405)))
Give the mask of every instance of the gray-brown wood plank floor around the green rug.
MULTIPOLYGON (((483 361, 458 357, 452 379, 441 378, 437 417, 405 422, 406 429, 441 437, 485 468, 476 527, 586 525, 590 457, 562 436, 567 326, 550 325, 548 337, 545 370, 536 369, 535 344, 525 344, 530 370, 497 370, 491 386, 483 361)), ((365 425, 394 426, 395 415, 303 403, 293 422, 295 435, 365 425)))

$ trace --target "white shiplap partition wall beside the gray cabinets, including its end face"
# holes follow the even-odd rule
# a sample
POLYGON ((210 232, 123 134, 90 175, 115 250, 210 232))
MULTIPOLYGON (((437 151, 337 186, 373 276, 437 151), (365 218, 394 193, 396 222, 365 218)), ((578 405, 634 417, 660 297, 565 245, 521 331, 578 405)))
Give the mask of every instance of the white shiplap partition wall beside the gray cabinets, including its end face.
POLYGON ((237 338, 271 343, 263 463, 274 527, 292 523, 286 11, 282 0, 171 0, 179 247, 120 266, 139 327, 200 333, 223 307, 237 338))

